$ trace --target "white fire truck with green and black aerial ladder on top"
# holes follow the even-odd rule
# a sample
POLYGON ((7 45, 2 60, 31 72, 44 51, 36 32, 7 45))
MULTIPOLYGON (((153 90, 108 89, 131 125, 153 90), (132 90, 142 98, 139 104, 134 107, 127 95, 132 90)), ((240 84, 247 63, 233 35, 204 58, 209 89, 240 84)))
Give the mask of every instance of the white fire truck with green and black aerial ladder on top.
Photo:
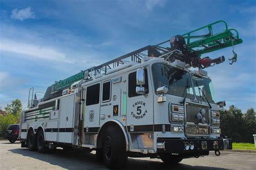
POLYGON ((202 55, 241 43, 238 31, 220 20, 56 81, 41 99, 31 88, 21 146, 40 153, 95 150, 109 168, 124 166, 127 157, 177 164, 232 149, 232 140, 220 137, 225 103, 215 100, 205 70, 225 57, 202 55))

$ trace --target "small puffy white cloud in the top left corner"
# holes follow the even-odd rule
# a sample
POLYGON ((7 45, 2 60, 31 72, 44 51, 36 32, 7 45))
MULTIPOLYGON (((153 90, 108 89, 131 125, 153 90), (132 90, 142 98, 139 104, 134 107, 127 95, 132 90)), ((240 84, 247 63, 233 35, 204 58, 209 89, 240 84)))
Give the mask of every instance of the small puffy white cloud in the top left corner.
POLYGON ((11 11, 11 18, 17 20, 34 19, 35 14, 31 11, 30 7, 21 10, 13 9, 11 11))

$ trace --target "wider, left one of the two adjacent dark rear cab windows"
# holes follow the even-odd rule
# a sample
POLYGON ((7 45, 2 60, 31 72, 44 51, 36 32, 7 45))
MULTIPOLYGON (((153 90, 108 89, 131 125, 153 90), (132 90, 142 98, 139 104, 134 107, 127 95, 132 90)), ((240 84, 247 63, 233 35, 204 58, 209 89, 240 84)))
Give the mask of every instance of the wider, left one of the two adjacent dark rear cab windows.
POLYGON ((99 84, 87 87, 86 105, 99 103, 99 84))

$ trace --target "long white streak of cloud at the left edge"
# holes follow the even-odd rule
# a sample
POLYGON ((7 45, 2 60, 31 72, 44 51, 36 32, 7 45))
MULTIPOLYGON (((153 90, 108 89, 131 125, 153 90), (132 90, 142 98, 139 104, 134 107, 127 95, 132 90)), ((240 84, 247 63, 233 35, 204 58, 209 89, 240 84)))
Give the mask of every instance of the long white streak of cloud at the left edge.
POLYGON ((32 56, 37 59, 73 62, 66 58, 66 54, 58 52, 51 47, 16 42, 10 39, 1 39, 0 51, 23 54, 23 57, 29 59, 31 59, 32 56))

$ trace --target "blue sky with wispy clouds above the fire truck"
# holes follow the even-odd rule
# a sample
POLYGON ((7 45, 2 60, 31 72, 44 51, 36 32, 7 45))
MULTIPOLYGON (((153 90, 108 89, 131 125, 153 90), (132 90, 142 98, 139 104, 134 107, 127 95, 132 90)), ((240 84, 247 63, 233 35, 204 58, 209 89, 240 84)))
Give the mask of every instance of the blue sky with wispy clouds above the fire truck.
MULTIPOLYGON (((0 105, 91 66, 216 20, 237 29, 238 61, 207 68, 217 100, 256 108, 256 1, 1 1, 0 105)), ((232 48, 210 54, 232 56, 232 48)))

